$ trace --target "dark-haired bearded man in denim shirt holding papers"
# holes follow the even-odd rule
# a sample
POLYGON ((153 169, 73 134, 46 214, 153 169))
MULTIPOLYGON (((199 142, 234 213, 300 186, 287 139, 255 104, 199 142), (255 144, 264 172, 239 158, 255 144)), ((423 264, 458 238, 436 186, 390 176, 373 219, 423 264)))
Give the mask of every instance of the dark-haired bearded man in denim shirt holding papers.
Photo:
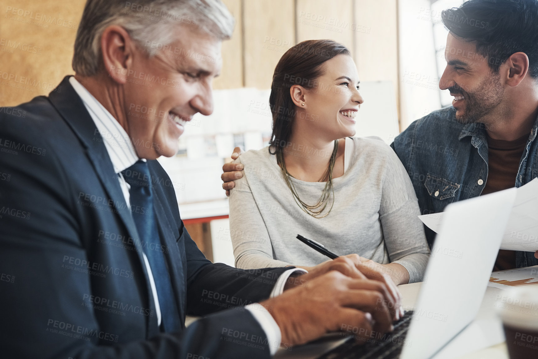
MULTIPOLYGON (((452 107, 391 144, 422 214, 538 177, 538 2, 472 0, 442 20, 450 33, 439 87, 454 96, 452 107)), ((431 245, 435 233, 426 235, 431 245)), ((533 252, 499 251, 495 270, 536 264, 533 252)))

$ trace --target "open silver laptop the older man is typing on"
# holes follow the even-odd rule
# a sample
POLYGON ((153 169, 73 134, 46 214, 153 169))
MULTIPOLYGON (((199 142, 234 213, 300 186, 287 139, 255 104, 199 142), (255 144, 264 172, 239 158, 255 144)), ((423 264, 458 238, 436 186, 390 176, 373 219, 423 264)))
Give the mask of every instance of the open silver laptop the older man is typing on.
POLYGON ((516 189, 447 206, 415 310, 394 331, 358 344, 350 336, 319 359, 429 359, 475 319, 516 189), (462 295, 463 293, 463 295, 462 295))

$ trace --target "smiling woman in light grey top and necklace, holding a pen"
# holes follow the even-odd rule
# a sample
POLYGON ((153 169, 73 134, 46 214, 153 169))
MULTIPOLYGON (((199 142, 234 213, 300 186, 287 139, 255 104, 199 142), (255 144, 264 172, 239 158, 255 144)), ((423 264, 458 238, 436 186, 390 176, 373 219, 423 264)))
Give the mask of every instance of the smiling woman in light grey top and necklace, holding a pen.
POLYGON ((382 140, 355 135, 363 98, 355 62, 332 40, 291 47, 273 75, 270 146, 243 153, 230 193, 230 234, 238 268, 295 265, 327 258, 295 239, 420 281, 429 250, 404 166, 382 140))

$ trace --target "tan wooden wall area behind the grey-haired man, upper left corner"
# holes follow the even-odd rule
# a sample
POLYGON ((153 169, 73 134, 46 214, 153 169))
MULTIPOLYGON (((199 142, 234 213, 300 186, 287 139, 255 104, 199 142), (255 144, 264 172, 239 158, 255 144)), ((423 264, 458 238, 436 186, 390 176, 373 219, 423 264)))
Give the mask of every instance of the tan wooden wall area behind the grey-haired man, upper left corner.
POLYGON ((0 1, 0 106, 46 95, 63 76, 73 74, 73 44, 84 3, 0 1))

